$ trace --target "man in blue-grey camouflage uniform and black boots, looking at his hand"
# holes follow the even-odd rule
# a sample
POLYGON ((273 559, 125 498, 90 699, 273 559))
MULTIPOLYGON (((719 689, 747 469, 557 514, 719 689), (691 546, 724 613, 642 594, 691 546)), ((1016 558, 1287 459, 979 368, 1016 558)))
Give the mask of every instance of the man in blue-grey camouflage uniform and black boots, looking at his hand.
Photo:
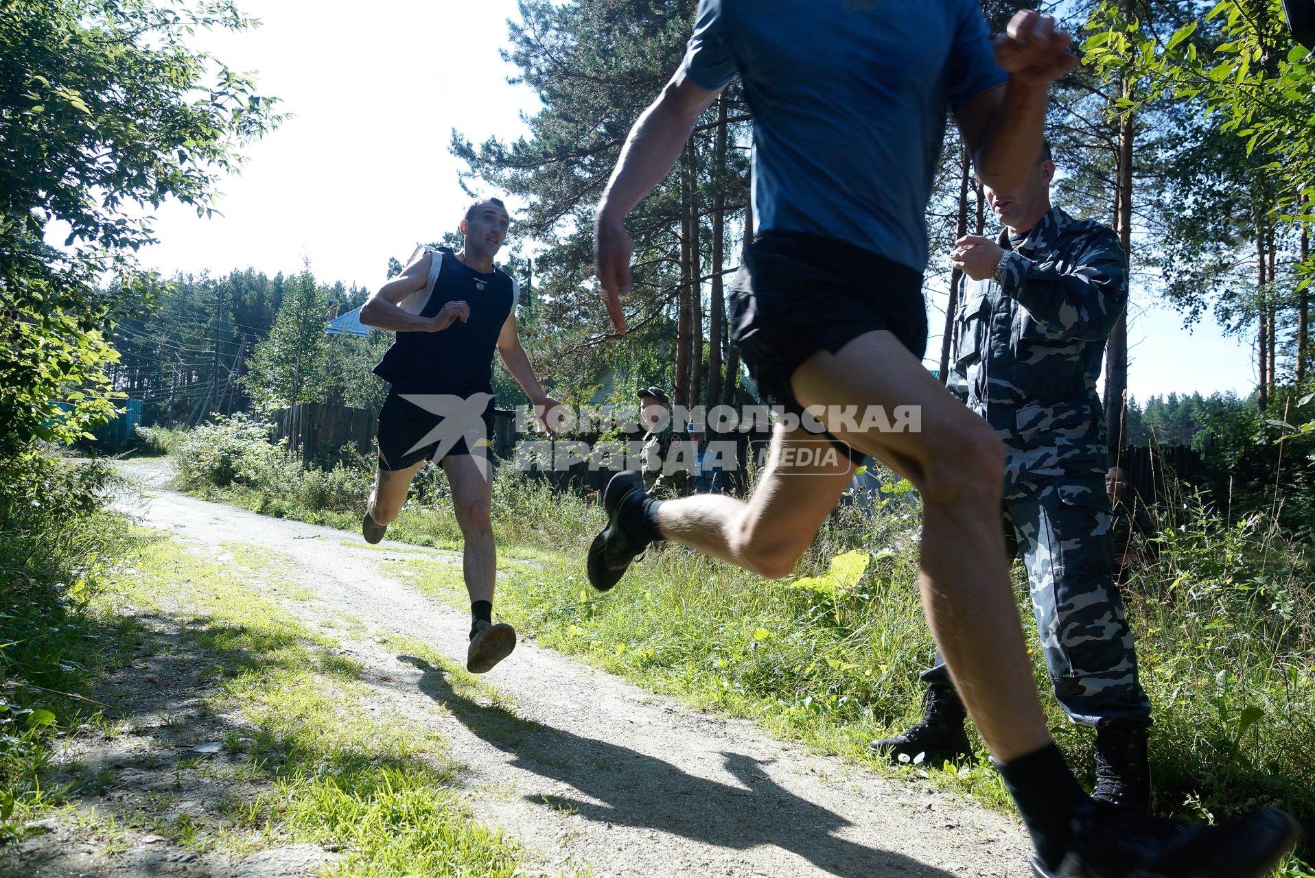
MULTIPOLYGON (((985 191, 999 238, 969 235, 951 252, 970 280, 949 385, 1005 444, 1005 532, 1027 569, 1055 697, 1074 723, 1097 728, 1093 795, 1147 810, 1151 702, 1114 584, 1095 390, 1127 302, 1127 260, 1111 229, 1051 206, 1053 175, 1047 145, 1016 192, 985 191)), ((938 764, 968 756, 964 708, 939 656, 922 680, 923 720, 873 748, 938 764)))

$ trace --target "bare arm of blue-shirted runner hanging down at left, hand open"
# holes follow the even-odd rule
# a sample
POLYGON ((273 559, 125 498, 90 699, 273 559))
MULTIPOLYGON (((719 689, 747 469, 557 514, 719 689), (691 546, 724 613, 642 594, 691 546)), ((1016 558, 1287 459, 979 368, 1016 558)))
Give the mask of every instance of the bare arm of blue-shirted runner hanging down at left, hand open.
POLYGON ((681 66, 630 129, 626 146, 598 201, 594 268, 602 284, 608 314, 618 333, 626 331, 626 315, 618 296, 630 292, 631 247, 623 225, 626 214, 671 172, 694 130, 694 122, 718 93, 696 85, 681 66))

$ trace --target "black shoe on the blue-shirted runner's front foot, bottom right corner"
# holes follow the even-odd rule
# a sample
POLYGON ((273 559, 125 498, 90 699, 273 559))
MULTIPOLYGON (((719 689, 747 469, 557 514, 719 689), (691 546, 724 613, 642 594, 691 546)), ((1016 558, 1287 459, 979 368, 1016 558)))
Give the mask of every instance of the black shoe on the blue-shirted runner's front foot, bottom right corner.
POLYGON ((1161 820, 1099 802, 1073 818, 1069 850, 1036 878, 1261 878, 1301 839, 1287 814, 1270 808, 1219 825, 1161 820))

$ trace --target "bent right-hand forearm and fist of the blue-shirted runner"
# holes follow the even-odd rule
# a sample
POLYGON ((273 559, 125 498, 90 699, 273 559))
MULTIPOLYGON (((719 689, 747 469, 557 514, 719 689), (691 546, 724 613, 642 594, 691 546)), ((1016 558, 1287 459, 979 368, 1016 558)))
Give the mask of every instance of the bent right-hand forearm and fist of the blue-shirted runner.
POLYGON ((995 60, 1009 72, 1009 81, 955 113, 977 176, 990 188, 1013 191, 1036 163, 1049 84, 1077 66, 1068 47, 1069 35, 1055 30, 1055 18, 1031 9, 1015 13, 995 38, 995 60))

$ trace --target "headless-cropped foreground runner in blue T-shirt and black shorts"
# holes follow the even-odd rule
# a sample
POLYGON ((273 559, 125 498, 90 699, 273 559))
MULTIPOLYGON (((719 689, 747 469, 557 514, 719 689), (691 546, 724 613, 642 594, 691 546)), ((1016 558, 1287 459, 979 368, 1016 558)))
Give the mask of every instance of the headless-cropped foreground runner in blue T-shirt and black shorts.
POLYGON ((1219 827, 1156 820, 1093 802, 1073 778, 1043 720, 1009 582, 999 439, 920 363, 923 212, 945 109, 981 180, 1011 191, 1041 147, 1049 83, 1077 63, 1068 42, 1048 16, 1019 12, 993 47, 976 0, 700 3, 684 63, 635 124, 598 205, 598 277, 625 331, 623 220, 739 75, 759 234, 732 284, 731 339, 790 417, 748 502, 663 502, 639 473, 615 476, 589 578, 610 589, 661 539, 788 576, 849 482, 839 450, 872 455, 922 494, 923 606, 1032 836, 1035 874, 1258 878, 1299 835, 1282 811, 1219 827))

